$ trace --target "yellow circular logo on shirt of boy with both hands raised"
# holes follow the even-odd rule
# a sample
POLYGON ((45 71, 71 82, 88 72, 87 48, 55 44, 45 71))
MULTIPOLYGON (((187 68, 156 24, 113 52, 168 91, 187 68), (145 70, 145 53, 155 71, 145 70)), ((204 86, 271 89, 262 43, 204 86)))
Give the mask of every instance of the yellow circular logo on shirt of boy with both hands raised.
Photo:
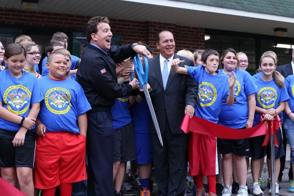
POLYGON ((210 106, 212 105, 218 96, 217 89, 213 84, 208 82, 201 82, 198 87, 198 103, 201 106, 210 106))

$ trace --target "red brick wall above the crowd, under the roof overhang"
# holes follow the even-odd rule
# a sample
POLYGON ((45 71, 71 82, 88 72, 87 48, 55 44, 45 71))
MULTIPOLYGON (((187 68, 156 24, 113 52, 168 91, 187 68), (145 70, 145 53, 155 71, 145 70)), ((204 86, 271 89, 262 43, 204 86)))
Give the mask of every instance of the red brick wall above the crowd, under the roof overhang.
MULTIPOLYGON (((89 16, 73 14, 0 8, 0 24, 8 25, 42 26, 84 31, 85 24, 90 18, 89 16)), ((156 36, 161 30, 172 31, 177 50, 204 49, 204 28, 111 18, 110 22, 112 32, 122 35, 122 44, 143 41, 154 49, 155 55, 158 52, 156 36)))

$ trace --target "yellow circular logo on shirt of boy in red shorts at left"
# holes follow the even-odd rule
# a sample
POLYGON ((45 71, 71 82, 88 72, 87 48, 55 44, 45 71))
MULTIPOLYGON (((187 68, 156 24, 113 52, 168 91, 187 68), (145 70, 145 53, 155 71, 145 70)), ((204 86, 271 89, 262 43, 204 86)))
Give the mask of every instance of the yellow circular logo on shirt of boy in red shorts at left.
POLYGON ((45 103, 50 112, 65 114, 72 106, 71 94, 64 88, 51 88, 45 94, 45 103))

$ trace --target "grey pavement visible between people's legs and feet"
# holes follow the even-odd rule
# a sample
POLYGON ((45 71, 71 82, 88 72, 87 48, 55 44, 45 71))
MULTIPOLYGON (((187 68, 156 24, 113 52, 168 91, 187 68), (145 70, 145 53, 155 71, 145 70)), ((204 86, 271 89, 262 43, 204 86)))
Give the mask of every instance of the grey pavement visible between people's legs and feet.
MULTIPOLYGON (((288 191, 287 191, 289 186, 290 186, 290 182, 288 181, 289 180, 288 179, 288 171, 289 171, 289 168, 290 168, 290 147, 289 146, 287 147, 287 157, 286 157, 286 167, 285 168, 286 169, 283 172, 284 175, 283 175, 283 178, 282 178, 282 182, 279 183, 279 185, 281 187, 279 192, 280 192, 281 196, 294 196, 294 193, 288 193, 288 191)), ((264 165, 264 169, 263 169, 263 172, 262 172, 262 178, 263 178, 263 180, 265 182, 265 186, 267 186, 266 182, 267 182, 267 179, 268 179, 268 168, 267 168, 266 160, 265 160, 265 165, 264 165)), ((251 186, 252 186, 252 175, 251 175, 251 170, 250 169, 248 171, 247 182, 248 182, 248 186, 251 188, 251 186)), ((269 188, 266 187, 266 190, 264 191, 264 193, 265 193, 265 196, 269 195, 269 188)), ((136 196, 140 196, 139 192, 136 194, 136 196)), ((154 183, 154 191, 152 192, 151 196, 159 196, 158 190, 157 190, 157 187, 156 187, 155 183, 154 183)), ((192 193, 188 194, 187 196, 192 196, 192 193)), ((250 196, 253 196, 253 195, 250 194, 250 196)))

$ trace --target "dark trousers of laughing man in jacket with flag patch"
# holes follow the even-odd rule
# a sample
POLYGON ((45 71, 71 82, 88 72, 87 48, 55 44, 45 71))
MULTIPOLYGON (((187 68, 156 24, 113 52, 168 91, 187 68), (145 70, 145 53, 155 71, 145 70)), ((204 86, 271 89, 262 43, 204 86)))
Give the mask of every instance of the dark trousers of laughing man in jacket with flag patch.
POLYGON ((114 129, 110 112, 88 113, 88 196, 113 195, 114 129))

